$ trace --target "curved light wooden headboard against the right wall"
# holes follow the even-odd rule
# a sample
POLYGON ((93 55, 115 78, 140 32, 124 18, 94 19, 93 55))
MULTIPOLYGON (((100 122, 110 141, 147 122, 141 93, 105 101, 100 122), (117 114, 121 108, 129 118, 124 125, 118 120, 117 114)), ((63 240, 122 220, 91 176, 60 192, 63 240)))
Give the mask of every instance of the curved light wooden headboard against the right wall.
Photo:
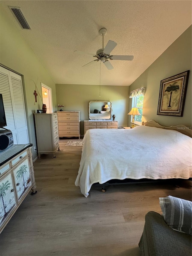
POLYGON ((167 126, 160 125, 159 123, 155 122, 154 120, 143 122, 142 125, 152 126, 152 127, 162 128, 162 129, 168 129, 168 130, 175 130, 175 131, 179 131, 182 134, 185 134, 189 137, 192 137, 192 130, 185 125, 176 125, 176 126, 167 127, 167 126))

